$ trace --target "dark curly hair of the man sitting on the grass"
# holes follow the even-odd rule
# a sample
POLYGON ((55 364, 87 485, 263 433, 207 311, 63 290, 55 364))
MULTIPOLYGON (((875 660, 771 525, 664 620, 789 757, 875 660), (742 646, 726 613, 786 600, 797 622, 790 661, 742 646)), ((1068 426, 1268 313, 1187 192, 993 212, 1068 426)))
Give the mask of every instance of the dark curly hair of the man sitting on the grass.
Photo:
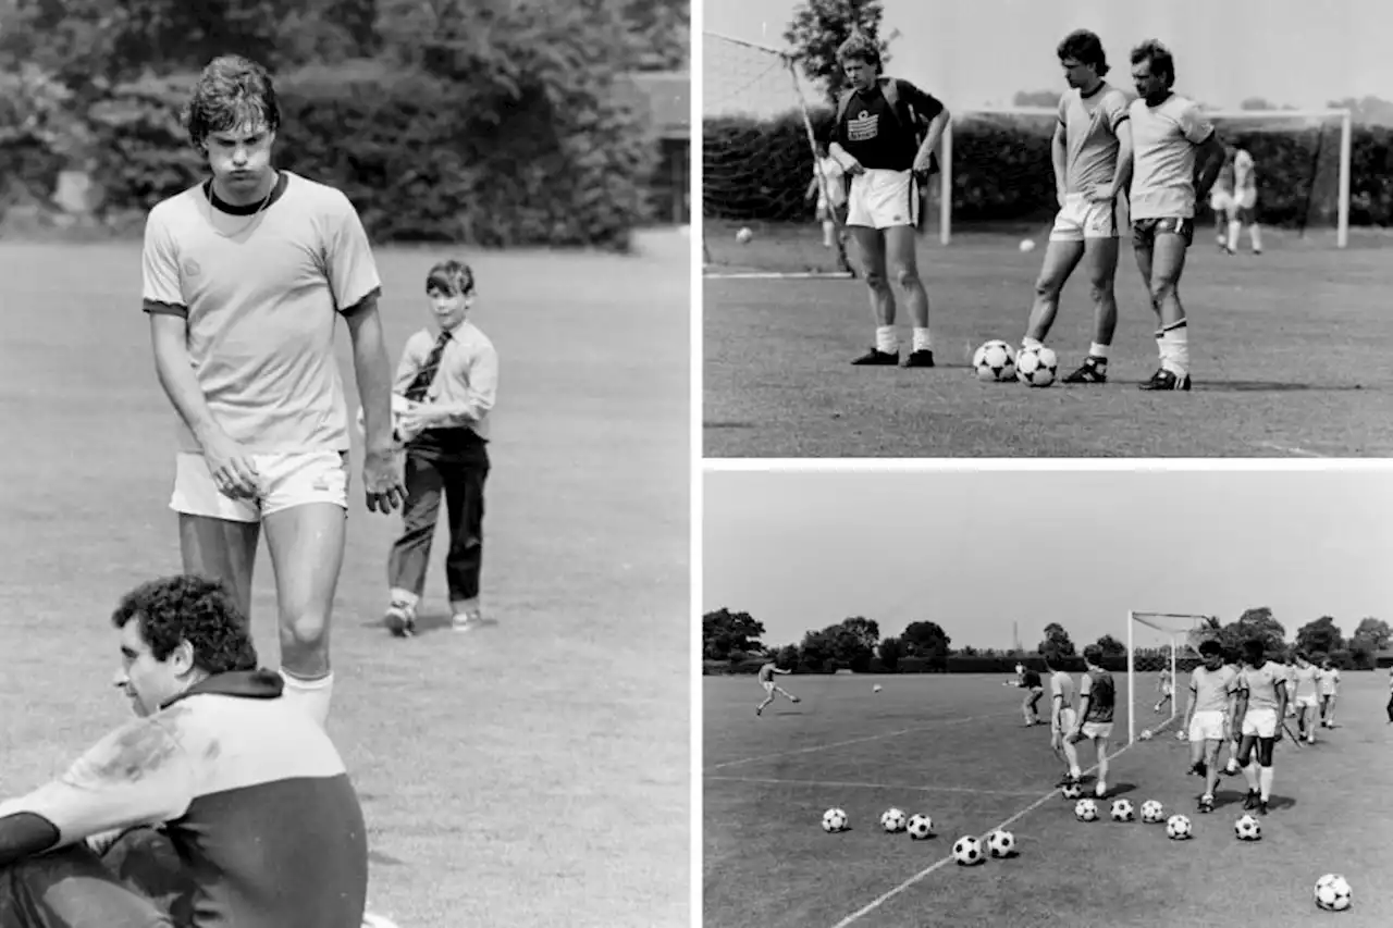
POLYGON ((208 673, 255 670, 256 648, 251 628, 221 582, 181 574, 141 584, 121 598, 111 624, 124 628, 139 620, 141 638, 156 660, 187 641, 194 648, 194 666, 208 673))

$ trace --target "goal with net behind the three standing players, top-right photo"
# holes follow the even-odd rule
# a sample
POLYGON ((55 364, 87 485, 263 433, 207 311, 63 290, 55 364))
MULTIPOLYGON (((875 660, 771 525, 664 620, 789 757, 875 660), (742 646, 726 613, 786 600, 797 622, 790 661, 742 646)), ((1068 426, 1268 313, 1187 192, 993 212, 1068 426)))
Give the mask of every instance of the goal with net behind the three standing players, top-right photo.
MULTIPOLYGON (((1344 248, 1350 229, 1348 110, 1211 110, 1226 144, 1258 174, 1258 223, 1282 235, 1344 248), (1277 188, 1280 185, 1280 188, 1277 188)), ((1042 237, 1056 210, 1053 107, 954 109, 943 135, 939 240, 996 233, 1042 237)), ((1126 202, 1119 220, 1126 234, 1126 202)), ((1209 203, 1197 223, 1216 231, 1209 203)), ((1209 237, 1213 240, 1213 234, 1209 237)))

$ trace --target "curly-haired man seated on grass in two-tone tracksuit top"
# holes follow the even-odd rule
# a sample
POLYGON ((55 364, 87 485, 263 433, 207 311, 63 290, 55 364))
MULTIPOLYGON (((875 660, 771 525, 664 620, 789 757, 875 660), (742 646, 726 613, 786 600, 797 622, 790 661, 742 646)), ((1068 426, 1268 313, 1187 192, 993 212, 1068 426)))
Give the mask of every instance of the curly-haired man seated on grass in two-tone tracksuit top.
POLYGON ((156 580, 111 616, 138 719, 0 803, 4 928, 344 928, 368 846, 344 762, 256 667, 217 582, 156 580))

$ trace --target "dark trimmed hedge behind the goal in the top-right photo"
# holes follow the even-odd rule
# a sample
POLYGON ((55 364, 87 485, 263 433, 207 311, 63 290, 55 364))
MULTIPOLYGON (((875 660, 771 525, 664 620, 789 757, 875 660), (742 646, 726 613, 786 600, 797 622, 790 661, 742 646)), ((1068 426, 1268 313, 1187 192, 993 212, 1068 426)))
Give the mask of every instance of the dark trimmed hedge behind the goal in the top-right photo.
MULTIPOLYGON (((811 114, 822 138, 832 113, 811 114)), ((1293 127, 1275 120, 1217 121, 1220 137, 1244 145, 1258 163, 1259 220, 1273 226, 1332 224, 1339 202, 1340 125, 1293 127)), ((1056 209, 1049 117, 974 114, 953 127, 954 222, 1041 220, 1056 209)), ((798 113, 756 120, 709 118, 702 125, 705 215, 713 219, 797 222, 812 176, 808 134, 798 113)), ((1350 223, 1393 224, 1393 130, 1355 125, 1350 159, 1350 223)))

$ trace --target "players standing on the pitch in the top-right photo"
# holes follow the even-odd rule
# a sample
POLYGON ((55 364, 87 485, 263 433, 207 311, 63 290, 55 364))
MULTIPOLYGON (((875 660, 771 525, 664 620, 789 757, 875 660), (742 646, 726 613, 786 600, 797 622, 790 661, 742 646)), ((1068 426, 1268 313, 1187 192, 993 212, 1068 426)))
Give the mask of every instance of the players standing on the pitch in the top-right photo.
MULTIPOLYGON (((1117 202, 1126 195, 1137 268, 1158 320, 1159 368, 1141 387, 1188 390, 1188 325, 1178 286, 1194 241, 1197 205, 1213 194, 1209 202, 1220 216, 1220 248, 1233 252, 1241 226, 1248 224, 1254 251, 1261 252, 1252 157, 1222 144, 1199 105, 1172 89, 1176 63, 1160 42, 1146 40, 1131 52, 1138 95, 1131 102, 1105 79, 1107 56, 1094 32, 1071 32, 1057 54, 1068 84, 1052 141, 1059 213, 1021 347, 1045 343, 1064 283, 1082 262, 1094 302, 1094 340, 1084 362, 1064 382, 1106 383, 1117 327, 1117 202)), ((949 113, 908 81, 882 77, 879 50, 864 36, 843 43, 839 60, 850 89, 839 103, 826 156, 819 157, 823 180, 814 184, 832 191, 850 177, 844 224, 857 245, 876 319, 875 344, 853 364, 900 362, 894 280, 914 326, 904 366, 932 368, 929 298, 917 266, 915 231, 921 194, 936 167, 933 152, 949 113)), ((836 192, 819 198, 823 244, 829 247, 839 199, 836 192)))

